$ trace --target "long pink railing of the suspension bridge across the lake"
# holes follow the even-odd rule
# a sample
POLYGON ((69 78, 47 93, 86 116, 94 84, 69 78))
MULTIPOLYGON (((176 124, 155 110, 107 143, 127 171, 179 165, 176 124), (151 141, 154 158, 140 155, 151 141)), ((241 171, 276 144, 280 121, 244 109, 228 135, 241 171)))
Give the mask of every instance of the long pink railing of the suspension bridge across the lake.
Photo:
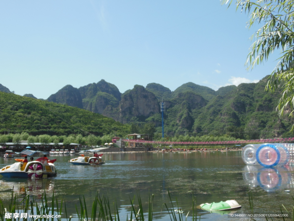
POLYGON ((252 144, 252 143, 279 143, 279 142, 291 142, 294 141, 294 137, 290 138, 273 138, 273 139, 261 139, 261 140, 242 140, 242 141, 206 141, 206 142, 173 142, 173 141, 142 141, 142 140, 127 140, 125 142, 132 143, 144 143, 144 144, 252 144))

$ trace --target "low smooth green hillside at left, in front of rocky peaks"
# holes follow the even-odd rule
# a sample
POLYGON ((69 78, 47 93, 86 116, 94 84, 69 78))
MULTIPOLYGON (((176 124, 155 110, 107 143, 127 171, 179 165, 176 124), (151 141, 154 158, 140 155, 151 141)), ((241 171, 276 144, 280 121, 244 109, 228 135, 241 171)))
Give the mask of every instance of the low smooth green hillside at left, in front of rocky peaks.
POLYGON ((123 125, 101 114, 39 99, 0 92, 0 133, 27 132, 31 135, 89 133, 102 136, 129 132, 123 125))

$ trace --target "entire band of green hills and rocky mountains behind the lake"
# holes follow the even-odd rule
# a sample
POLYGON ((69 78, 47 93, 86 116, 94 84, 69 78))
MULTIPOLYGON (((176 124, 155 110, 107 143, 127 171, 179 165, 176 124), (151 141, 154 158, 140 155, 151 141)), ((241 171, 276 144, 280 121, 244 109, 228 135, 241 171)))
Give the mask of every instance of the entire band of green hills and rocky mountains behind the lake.
POLYGON ((239 139, 291 137, 293 133, 289 131, 294 121, 288 117, 278 118, 275 108, 280 91, 266 92, 266 83, 267 77, 258 83, 229 85, 217 91, 191 82, 175 91, 149 83, 146 88, 135 85, 122 94, 115 85, 101 80, 80 88, 66 85, 48 98, 79 108, 1 93, 3 123, 0 133, 10 130, 34 135, 64 135, 81 133, 81 128, 99 136, 119 131, 121 135, 154 133, 159 139, 163 99, 166 137, 185 134, 227 135, 239 139))

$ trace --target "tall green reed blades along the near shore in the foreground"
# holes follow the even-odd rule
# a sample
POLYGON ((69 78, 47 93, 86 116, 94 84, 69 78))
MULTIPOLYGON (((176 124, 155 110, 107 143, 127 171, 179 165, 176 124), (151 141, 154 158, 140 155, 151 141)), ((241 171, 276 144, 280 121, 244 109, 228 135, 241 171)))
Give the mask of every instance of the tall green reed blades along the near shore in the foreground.
MULTIPOLYGON (((165 207, 166 211, 164 214, 170 217, 171 221, 187 221, 189 213, 192 221, 201 220, 201 215, 197 213, 197 202, 196 196, 193 191, 189 191, 192 194, 192 204, 191 208, 188 208, 187 215, 183 216, 182 209, 179 207, 178 199, 175 201, 172 200, 171 193, 168 190, 168 198, 169 202, 164 203, 162 208, 165 207), (173 203, 176 202, 176 203, 173 203)), ((253 194, 247 189, 250 212, 254 212, 254 204, 253 204, 253 194)), ((294 201, 294 197, 293 201, 294 201)), ((134 196, 132 199, 129 197, 131 203, 131 211, 130 214, 126 215, 126 221, 152 221, 153 220, 153 200, 154 194, 148 197, 148 212, 144 213, 143 211, 143 203, 140 194, 137 194, 137 197, 134 196), (135 199, 136 204, 135 204, 135 199), (129 219, 128 219, 129 218, 129 219)), ((119 210, 116 200, 111 202, 108 196, 100 196, 98 192, 96 192, 91 212, 88 213, 87 205, 85 197, 79 197, 79 203, 76 207, 76 216, 78 221, 120 221, 119 210)), ((294 221, 294 206, 291 207, 291 210, 287 210, 286 207, 282 204, 280 207, 281 213, 288 213, 291 215, 291 220, 294 221)), ((22 196, 18 196, 12 189, 11 198, 9 202, 5 203, 0 199, 0 221, 47 221, 47 218, 43 218, 43 215, 62 215, 63 219, 66 218, 67 221, 71 221, 72 216, 68 217, 66 210, 66 203, 64 200, 59 200, 52 194, 52 198, 49 200, 46 192, 41 195, 40 199, 36 199, 34 196, 30 196, 26 193, 26 189, 24 190, 24 194, 22 196), (26 219, 22 218, 5 218, 5 213, 28 213, 28 217, 26 219), (41 215, 39 218, 30 218, 29 215, 41 215)), ((61 221, 61 218, 50 218, 51 221, 61 221)), ((265 219, 272 220, 271 217, 265 217, 265 219)), ((254 219, 251 219, 254 220, 254 219)), ((283 218, 283 220, 285 220, 283 218)), ((287 219, 288 220, 288 219, 287 219)))

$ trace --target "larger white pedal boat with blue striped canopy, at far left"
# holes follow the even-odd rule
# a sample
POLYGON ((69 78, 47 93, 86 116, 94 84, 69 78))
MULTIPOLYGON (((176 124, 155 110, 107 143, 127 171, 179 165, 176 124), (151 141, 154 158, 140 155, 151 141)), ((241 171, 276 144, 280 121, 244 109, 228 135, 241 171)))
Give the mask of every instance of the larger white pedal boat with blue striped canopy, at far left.
MULTIPOLYGON (((21 154, 32 156, 35 153, 42 153, 40 151, 24 150, 21 154)), ((47 178, 56 177, 56 169, 54 160, 49 160, 47 157, 40 157, 35 161, 23 162, 23 159, 15 159, 17 162, 0 169, 0 175, 9 178, 47 178)))

